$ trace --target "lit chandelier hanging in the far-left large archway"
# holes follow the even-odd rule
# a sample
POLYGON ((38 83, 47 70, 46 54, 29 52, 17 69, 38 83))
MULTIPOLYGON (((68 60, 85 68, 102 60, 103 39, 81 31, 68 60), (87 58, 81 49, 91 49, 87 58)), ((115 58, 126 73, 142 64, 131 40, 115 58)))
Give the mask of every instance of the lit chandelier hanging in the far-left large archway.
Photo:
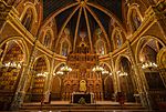
POLYGON ((6 62, 2 64, 2 67, 21 69, 21 64, 22 62, 6 62))

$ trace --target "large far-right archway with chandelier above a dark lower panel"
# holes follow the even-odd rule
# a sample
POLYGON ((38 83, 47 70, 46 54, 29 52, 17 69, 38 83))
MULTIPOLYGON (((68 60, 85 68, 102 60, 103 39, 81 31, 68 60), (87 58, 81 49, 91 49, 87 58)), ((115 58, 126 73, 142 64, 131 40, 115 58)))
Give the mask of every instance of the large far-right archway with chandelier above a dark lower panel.
MULTIPOLYGON (((164 90, 164 75, 160 74, 162 63, 157 63, 157 55, 163 44, 153 38, 142 40, 138 59, 145 74, 148 90, 164 90)), ((163 55, 164 57, 164 55, 163 55)), ((162 59, 162 58, 160 58, 162 59)))

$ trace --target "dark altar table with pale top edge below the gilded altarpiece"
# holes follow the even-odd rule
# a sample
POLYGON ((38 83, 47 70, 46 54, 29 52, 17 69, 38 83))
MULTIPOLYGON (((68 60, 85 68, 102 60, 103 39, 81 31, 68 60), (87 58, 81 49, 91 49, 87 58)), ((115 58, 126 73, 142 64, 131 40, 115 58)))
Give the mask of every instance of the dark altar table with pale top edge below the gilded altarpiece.
POLYGON ((73 92, 72 93, 72 103, 93 103, 94 102, 94 93, 84 93, 84 92, 73 92))

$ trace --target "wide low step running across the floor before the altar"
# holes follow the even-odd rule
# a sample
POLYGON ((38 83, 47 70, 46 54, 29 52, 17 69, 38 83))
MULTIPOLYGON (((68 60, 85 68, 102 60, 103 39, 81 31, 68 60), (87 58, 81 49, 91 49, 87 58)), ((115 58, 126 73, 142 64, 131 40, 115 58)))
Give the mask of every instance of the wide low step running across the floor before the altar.
POLYGON ((20 110, 70 110, 70 111, 76 111, 76 110, 84 110, 84 111, 91 111, 91 110, 146 110, 138 103, 133 104, 124 104, 124 106, 121 106, 120 104, 33 104, 33 103, 24 103, 20 110))

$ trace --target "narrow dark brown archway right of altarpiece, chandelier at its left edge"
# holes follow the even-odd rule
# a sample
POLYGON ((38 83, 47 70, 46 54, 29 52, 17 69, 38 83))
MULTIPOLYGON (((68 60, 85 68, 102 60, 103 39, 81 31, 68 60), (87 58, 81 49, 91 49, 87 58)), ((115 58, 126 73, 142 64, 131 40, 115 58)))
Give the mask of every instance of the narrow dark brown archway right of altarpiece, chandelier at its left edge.
POLYGON ((125 57, 121 57, 120 59, 117 75, 120 80, 121 92, 124 94, 125 100, 127 102, 135 102, 134 93, 136 86, 132 70, 132 63, 125 57))

